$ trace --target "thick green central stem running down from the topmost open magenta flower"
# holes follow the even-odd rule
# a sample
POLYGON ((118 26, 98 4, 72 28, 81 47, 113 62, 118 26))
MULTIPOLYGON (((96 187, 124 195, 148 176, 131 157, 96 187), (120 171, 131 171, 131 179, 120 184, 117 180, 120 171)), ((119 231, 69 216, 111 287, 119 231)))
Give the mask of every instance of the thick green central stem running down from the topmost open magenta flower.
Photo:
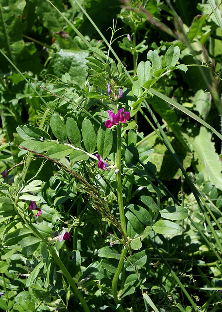
MULTIPOLYGON (((119 169, 119 172, 117 173, 117 195, 118 195, 118 204, 119 204, 119 210, 120 210, 120 222, 122 231, 127 235, 126 232, 126 219, 124 214, 124 206, 123 206, 123 200, 122 200, 122 182, 121 182, 121 124, 117 126, 117 168, 119 169)), ((112 281, 112 289, 113 289, 113 298, 115 303, 119 304, 118 299, 118 293, 117 293, 117 283, 118 279, 122 270, 122 266, 124 263, 124 258, 126 256, 127 249, 122 249, 120 262, 117 267, 117 271, 114 274, 113 281, 112 281)), ((120 306, 118 309, 120 312, 123 311, 122 307, 120 306)))

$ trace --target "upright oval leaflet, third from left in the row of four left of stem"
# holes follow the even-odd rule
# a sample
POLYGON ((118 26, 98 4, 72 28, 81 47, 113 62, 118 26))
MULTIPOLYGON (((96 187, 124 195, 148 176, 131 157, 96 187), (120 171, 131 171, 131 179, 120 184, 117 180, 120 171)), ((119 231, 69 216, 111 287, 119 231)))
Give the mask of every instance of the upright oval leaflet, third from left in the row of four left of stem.
POLYGON ((89 119, 82 123, 82 135, 86 151, 92 154, 96 148, 96 133, 89 119))

